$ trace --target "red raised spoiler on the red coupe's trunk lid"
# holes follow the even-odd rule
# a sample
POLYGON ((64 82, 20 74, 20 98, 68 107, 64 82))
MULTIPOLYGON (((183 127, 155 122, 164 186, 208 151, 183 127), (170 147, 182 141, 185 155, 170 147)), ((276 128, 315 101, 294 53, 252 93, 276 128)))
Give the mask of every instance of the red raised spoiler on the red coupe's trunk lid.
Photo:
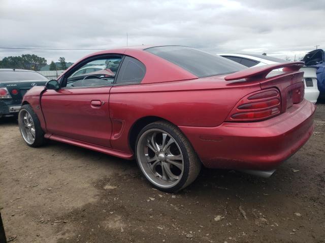
POLYGON ((283 71, 298 71, 305 63, 304 62, 288 62, 276 63, 265 66, 251 67, 245 70, 234 72, 224 77, 226 81, 237 79, 260 79, 265 78, 272 70, 283 68, 283 71))

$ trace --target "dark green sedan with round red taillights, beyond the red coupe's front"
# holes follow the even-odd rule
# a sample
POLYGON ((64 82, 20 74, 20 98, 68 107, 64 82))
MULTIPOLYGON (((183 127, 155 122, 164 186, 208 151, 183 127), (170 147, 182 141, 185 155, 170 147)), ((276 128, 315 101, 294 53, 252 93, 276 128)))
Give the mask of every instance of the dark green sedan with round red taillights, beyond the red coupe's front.
POLYGON ((22 97, 34 86, 44 86, 42 74, 23 69, 0 69, 0 117, 18 114, 22 97))

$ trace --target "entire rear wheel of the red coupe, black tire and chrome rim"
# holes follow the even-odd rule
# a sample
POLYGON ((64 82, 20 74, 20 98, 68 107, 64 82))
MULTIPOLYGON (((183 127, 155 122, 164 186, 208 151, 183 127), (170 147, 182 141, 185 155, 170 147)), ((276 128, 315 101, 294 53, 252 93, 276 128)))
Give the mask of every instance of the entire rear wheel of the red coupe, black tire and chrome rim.
POLYGON ((167 121, 156 121, 140 131, 136 158, 148 181, 167 192, 184 189, 201 170, 201 161, 187 138, 167 121))

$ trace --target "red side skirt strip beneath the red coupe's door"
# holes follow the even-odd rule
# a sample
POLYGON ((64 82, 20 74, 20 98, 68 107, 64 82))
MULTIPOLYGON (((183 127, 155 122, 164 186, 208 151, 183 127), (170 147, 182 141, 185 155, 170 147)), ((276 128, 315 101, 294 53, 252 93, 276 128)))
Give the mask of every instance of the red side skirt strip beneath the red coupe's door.
POLYGON ((134 159, 133 154, 125 153, 125 152, 115 150, 115 149, 112 149, 112 148, 106 148, 106 147, 102 147, 102 146, 98 146, 98 145, 94 145, 94 144, 90 144, 90 143, 81 142, 81 141, 78 141, 78 140, 64 138, 64 137, 53 135, 53 134, 45 134, 44 137, 47 138, 47 139, 54 140, 54 141, 58 141, 58 142, 62 142, 62 143, 68 143, 68 144, 71 144, 71 145, 91 149, 91 150, 98 151, 98 152, 101 152, 101 153, 106 153, 106 154, 116 156, 116 157, 119 157, 119 158, 123 158, 123 159, 127 159, 127 160, 134 159))

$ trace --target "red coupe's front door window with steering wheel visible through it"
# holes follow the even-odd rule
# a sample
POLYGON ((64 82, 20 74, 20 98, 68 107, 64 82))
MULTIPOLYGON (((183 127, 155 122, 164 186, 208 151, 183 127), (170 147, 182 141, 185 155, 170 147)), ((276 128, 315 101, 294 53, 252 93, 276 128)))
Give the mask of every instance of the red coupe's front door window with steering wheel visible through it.
POLYGON ((120 55, 91 58, 79 66, 66 79, 67 88, 103 87, 114 83, 115 74, 122 60, 120 55))

